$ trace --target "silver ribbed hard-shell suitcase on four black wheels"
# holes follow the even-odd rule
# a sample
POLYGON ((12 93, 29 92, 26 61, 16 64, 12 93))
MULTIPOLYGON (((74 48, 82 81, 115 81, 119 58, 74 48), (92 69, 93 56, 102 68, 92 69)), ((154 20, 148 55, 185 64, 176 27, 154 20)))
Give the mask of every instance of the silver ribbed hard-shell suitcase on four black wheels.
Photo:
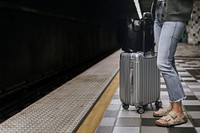
POLYGON ((155 102, 160 108, 160 72, 156 65, 156 53, 121 53, 120 100, 122 107, 135 106, 137 112, 145 112, 145 106, 155 102))

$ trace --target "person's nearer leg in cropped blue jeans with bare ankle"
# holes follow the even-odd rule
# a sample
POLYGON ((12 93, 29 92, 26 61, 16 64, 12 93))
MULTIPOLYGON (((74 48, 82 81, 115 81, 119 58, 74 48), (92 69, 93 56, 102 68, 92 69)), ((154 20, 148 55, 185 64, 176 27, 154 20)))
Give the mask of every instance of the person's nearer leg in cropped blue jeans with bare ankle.
MULTIPOLYGON (((159 39, 157 65, 165 80, 172 111, 185 118, 182 110, 182 100, 185 98, 183 87, 177 73, 174 55, 178 41, 185 29, 183 22, 164 22, 159 39)), ((163 119, 159 123, 165 123, 163 119)))

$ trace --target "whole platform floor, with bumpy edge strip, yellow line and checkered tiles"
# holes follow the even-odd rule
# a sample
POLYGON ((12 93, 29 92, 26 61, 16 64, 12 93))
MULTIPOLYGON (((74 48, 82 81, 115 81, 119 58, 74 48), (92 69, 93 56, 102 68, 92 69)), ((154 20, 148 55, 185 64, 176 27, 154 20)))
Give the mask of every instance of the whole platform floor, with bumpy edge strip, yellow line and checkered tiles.
MULTIPOLYGON (((134 106, 128 110, 121 107, 119 50, 1 123, 0 133, 200 133, 200 59, 196 56, 200 50, 196 55, 183 56, 188 50, 195 51, 196 46, 191 49, 185 44, 181 46, 176 65, 187 95, 183 102, 186 124, 157 127, 154 124, 157 118, 152 116, 155 108, 150 105, 144 114, 138 114, 134 106)), ((162 77, 161 100, 167 106, 168 94, 162 77)))

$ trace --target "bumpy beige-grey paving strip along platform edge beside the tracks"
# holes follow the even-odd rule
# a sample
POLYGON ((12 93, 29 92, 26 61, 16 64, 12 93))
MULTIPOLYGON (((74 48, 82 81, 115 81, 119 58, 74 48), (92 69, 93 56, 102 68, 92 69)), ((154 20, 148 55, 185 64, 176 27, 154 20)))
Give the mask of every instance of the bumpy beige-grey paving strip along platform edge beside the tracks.
POLYGON ((0 124, 0 133, 74 132, 119 70, 120 51, 0 124))

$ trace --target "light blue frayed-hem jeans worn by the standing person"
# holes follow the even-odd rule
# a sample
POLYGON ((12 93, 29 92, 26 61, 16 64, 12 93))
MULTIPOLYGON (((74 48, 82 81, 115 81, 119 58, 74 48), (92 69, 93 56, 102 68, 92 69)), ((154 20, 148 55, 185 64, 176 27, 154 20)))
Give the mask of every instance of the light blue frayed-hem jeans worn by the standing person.
POLYGON ((163 2, 157 5, 154 21, 154 37, 158 48, 157 66, 165 80, 170 102, 179 102, 185 98, 185 93, 176 70, 174 55, 185 23, 163 21, 163 6, 163 2))

